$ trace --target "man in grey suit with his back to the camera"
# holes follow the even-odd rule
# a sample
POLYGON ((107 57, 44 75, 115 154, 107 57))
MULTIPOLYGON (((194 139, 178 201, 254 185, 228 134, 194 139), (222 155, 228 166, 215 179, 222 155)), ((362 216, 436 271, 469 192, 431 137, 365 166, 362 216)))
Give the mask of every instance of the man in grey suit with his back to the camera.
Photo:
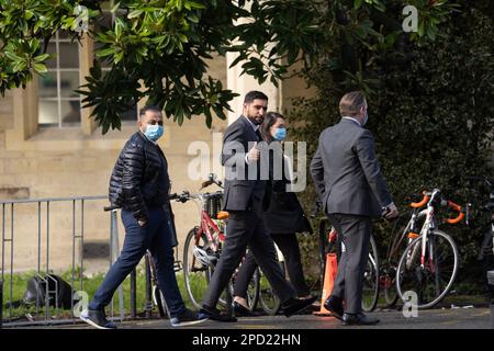
POLYGON ((339 102, 341 121, 321 133, 311 173, 317 194, 345 245, 332 295, 324 306, 344 325, 373 325, 362 314, 363 271, 369 256, 371 218, 398 212, 388 192, 367 123, 367 101, 360 91, 339 102), (345 309, 343 302, 345 301, 345 309))

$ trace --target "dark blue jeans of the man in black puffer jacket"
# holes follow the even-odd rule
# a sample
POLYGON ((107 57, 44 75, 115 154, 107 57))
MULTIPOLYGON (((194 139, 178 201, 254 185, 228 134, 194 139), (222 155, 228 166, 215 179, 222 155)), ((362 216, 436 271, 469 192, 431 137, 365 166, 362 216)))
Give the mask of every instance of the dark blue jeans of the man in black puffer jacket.
POLYGON ((186 309, 173 271, 173 249, 168 214, 161 207, 149 207, 147 223, 141 227, 132 212, 122 210, 125 239, 119 259, 110 268, 89 304, 89 309, 104 308, 110 304, 115 290, 139 263, 147 249, 156 264, 159 290, 162 292, 171 317, 186 309))

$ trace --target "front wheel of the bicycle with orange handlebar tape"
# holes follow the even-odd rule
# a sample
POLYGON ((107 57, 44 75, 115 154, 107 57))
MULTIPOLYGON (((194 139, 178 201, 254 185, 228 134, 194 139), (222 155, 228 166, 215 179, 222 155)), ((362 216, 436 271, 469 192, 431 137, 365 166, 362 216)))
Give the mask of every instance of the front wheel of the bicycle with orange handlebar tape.
POLYGON ((400 298, 417 308, 433 307, 450 291, 457 276, 458 260, 454 241, 440 230, 428 235, 424 258, 422 236, 414 239, 397 267, 396 291, 400 298), (424 264, 420 264, 422 260, 424 264), (409 292, 416 295, 416 299, 408 302, 405 293, 409 292))

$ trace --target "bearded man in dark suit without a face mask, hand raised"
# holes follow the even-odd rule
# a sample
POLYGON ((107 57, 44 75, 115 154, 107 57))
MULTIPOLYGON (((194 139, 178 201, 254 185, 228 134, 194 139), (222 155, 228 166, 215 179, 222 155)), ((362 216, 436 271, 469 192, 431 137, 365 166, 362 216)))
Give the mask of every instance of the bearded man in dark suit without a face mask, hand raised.
POLYGON ((223 210, 228 211, 229 218, 225 245, 200 310, 200 315, 213 320, 236 321, 232 316, 222 315, 215 306, 245 256, 247 246, 282 302, 281 308, 287 317, 308 307, 315 301, 294 298, 295 292, 283 278, 276 258, 274 244, 262 220, 267 179, 261 174, 269 172, 263 172, 261 167, 269 167, 269 163, 260 162, 266 152, 261 154, 262 145, 258 145, 261 143, 258 129, 267 107, 268 97, 260 91, 248 92, 244 100, 243 115, 228 126, 223 138, 222 165, 226 168, 223 210))

